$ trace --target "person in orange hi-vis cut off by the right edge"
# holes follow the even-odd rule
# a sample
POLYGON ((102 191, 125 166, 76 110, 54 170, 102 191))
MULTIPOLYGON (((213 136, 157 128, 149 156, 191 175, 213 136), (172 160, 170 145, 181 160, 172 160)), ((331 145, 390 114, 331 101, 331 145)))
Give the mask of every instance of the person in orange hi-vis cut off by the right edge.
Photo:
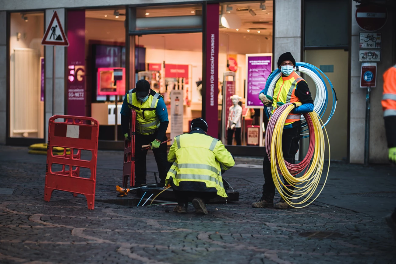
MULTIPOLYGON (((396 65, 390 67, 383 75, 384 92, 382 97, 382 110, 386 141, 388 141, 389 160, 396 164, 396 65)), ((396 208, 394 212, 385 217, 386 223, 392 229, 396 239, 396 208)))

